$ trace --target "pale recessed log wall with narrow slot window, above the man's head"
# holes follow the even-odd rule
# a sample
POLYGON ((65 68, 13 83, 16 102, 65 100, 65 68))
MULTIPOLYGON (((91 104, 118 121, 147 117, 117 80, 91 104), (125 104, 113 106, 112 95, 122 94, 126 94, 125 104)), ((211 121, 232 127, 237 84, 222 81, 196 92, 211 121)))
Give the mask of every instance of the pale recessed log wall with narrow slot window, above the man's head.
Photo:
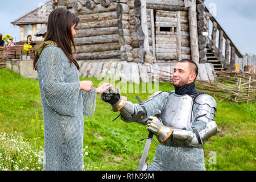
POLYGON ((187 11, 158 10, 155 24, 158 62, 191 59, 187 11))

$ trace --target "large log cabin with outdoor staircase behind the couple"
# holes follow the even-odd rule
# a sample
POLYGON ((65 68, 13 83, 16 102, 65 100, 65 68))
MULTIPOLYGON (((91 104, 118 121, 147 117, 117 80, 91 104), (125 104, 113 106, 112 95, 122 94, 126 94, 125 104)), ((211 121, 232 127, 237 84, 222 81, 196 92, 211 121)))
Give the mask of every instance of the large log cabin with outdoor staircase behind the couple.
POLYGON ((122 72, 122 81, 148 82, 152 74, 170 76, 177 61, 191 59, 199 66, 197 80, 209 82, 214 70, 234 70, 243 57, 204 0, 48 3, 52 10, 64 8, 80 18, 75 57, 81 77, 102 77, 112 69, 117 79, 122 72))

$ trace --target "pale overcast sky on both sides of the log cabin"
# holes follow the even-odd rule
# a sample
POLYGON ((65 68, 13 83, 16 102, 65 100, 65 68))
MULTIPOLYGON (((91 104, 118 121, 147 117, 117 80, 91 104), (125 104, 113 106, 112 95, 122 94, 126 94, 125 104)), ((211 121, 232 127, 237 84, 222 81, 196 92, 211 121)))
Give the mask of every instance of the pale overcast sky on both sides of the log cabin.
MULTIPOLYGON (((19 41, 19 26, 10 22, 27 14, 46 0, 1 0, 0 33, 19 41)), ((256 0, 205 0, 218 23, 241 53, 256 55, 256 0)))

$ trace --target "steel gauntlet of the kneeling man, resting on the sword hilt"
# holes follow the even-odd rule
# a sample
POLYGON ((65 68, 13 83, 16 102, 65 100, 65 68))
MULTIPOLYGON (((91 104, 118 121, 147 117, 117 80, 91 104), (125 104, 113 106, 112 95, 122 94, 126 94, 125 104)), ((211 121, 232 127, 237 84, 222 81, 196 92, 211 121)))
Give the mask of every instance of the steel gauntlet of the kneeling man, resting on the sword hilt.
POLYGON ((169 138, 174 130, 173 127, 164 126, 160 118, 152 116, 148 118, 147 126, 147 130, 154 133, 161 143, 169 138))

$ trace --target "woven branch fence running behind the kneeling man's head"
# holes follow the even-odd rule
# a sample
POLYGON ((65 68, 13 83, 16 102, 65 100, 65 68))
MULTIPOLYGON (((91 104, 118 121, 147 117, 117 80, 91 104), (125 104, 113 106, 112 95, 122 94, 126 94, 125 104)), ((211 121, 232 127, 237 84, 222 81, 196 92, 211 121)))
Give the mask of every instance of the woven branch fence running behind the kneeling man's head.
MULTIPOLYGON (((151 68, 152 78, 172 84, 170 72, 151 68), (158 78, 154 73, 158 72, 158 78)), ((256 100, 256 74, 236 71, 215 71, 215 81, 196 81, 196 89, 208 93, 221 101, 249 103, 256 100)))

